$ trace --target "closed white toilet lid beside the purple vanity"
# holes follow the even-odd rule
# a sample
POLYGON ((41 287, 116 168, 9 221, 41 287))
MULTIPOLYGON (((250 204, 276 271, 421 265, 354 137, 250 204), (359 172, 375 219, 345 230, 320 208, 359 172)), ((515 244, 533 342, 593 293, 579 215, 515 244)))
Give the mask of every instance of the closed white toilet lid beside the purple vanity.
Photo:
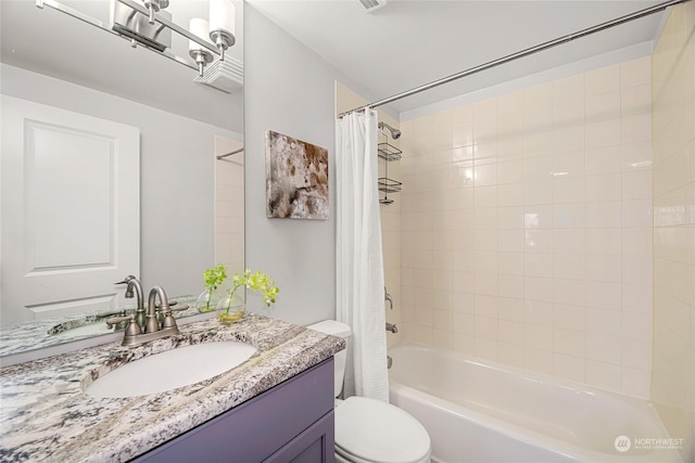
POLYGON ((429 454, 430 436, 395 406, 349 397, 336 409, 336 447, 375 463, 412 463, 429 454))

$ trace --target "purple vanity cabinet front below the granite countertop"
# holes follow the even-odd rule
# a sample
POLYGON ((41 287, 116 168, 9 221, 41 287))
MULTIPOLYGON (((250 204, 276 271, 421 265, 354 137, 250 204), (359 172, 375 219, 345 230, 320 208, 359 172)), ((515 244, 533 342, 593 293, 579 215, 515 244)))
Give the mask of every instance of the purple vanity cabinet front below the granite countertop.
POLYGON ((148 463, 334 463, 333 358, 144 453, 148 463))

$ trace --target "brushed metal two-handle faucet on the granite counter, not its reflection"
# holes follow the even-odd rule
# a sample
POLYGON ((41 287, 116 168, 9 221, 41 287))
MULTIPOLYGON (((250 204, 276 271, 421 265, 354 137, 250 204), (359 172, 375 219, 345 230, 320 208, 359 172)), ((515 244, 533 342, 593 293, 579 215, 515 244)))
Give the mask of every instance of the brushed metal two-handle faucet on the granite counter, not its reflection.
POLYGON ((150 295, 148 297, 148 311, 146 316, 147 320, 144 322, 144 330, 140 327, 135 314, 130 314, 128 317, 114 317, 106 320, 106 323, 116 324, 118 322, 127 321, 128 326, 126 327, 125 335, 123 336, 123 343, 121 344, 123 346, 132 347, 147 343, 148 340, 178 334, 178 326, 176 325, 176 320, 172 316, 172 312, 174 310, 179 311, 186 309, 188 309, 187 305, 172 309, 164 290, 161 286, 154 286, 150 291, 150 295), (156 299, 160 299, 159 306, 156 305, 156 299), (160 314, 162 316, 161 324, 160 314))

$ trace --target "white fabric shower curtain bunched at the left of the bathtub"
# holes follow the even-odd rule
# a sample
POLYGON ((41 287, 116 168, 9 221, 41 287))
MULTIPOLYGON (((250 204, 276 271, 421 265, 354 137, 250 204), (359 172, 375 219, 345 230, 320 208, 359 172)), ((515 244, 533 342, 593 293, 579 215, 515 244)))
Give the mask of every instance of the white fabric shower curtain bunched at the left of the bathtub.
POLYGON ((377 113, 352 113, 337 124, 337 318, 352 327, 346 378, 357 396, 389 401, 377 113))

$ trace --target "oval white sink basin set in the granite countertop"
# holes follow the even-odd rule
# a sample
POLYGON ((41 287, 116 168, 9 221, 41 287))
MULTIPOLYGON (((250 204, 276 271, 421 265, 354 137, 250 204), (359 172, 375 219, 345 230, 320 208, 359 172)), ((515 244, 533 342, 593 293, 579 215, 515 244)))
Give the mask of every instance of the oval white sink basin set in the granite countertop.
POLYGON ((255 352, 255 347, 233 340, 179 347, 126 363, 99 377, 85 393, 104 398, 164 393, 217 376, 255 352))

